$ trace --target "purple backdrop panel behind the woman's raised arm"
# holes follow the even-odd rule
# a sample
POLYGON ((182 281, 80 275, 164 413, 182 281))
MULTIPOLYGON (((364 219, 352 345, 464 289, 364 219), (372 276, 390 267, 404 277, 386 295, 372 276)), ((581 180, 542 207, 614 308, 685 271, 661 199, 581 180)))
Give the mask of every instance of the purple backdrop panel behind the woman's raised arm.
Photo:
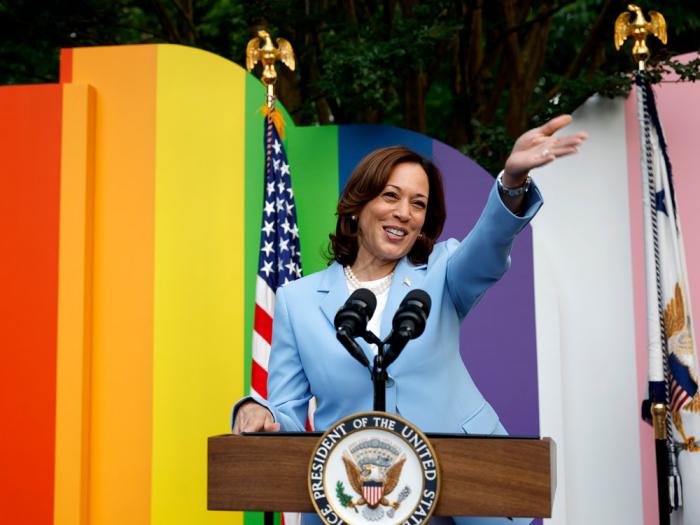
MULTIPOLYGON (((433 160, 445 178, 443 239, 462 239, 476 223, 493 185, 483 168, 433 141, 433 160)), ((512 267, 462 325, 461 353, 477 386, 510 434, 539 435, 532 230, 513 246, 512 267)))

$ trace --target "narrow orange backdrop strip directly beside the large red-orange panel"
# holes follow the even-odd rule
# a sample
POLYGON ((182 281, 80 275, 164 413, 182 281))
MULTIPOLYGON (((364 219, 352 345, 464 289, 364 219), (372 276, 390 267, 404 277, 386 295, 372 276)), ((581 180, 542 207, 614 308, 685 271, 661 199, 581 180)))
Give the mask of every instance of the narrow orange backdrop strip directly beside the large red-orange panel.
POLYGON ((87 523, 94 90, 63 85, 54 523, 87 523))

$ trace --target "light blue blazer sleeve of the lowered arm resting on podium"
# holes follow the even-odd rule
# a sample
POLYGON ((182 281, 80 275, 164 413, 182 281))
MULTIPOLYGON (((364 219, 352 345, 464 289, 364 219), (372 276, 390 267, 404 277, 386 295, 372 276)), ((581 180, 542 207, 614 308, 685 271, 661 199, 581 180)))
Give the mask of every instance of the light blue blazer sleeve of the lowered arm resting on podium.
POLYGON ((289 318, 285 287, 277 289, 272 350, 268 363, 267 397, 251 395, 238 401, 231 414, 231 427, 238 408, 250 399, 266 407, 285 432, 304 431, 311 391, 299 357, 294 328, 289 318))

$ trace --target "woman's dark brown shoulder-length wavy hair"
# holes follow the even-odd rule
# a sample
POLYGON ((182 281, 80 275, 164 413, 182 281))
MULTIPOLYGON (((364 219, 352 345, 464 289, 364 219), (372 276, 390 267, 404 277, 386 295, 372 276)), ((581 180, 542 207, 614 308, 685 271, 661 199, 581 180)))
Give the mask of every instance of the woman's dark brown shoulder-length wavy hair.
POLYGON ((442 174, 430 160, 404 146, 390 146, 374 150, 363 158, 352 172, 343 194, 338 201, 338 220, 335 234, 330 234, 328 263, 338 261, 343 266, 355 262, 359 249, 357 241, 357 220, 362 208, 377 197, 386 187, 391 172, 399 164, 410 162, 420 164, 428 175, 428 207, 425 224, 415 244, 408 252, 413 264, 424 264, 433 251, 433 246, 445 225, 445 191, 442 187, 442 174))

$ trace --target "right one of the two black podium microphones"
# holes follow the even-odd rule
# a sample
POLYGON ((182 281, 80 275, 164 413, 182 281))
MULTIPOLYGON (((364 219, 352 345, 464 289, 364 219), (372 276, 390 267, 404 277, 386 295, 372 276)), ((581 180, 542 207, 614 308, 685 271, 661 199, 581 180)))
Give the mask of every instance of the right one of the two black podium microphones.
POLYGON ((384 355, 384 367, 393 363, 411 339, 419 337, 425 331, 425 323, 430 315, 430 296, 423 290, 411 290, 399 305, 392 331, 386 339, 391 345, 384 355))

